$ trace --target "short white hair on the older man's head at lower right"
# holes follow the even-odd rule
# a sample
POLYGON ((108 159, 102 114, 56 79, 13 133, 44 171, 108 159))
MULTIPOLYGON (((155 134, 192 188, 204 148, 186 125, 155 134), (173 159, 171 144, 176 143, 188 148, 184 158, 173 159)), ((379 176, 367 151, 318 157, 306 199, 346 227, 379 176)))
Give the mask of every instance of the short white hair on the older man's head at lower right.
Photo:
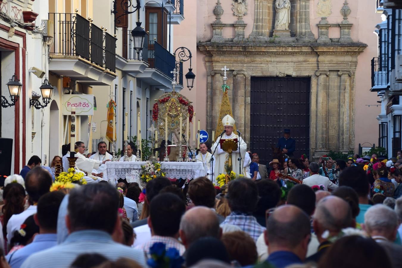
POLYGON ((367 227, 367 231, 393 232, 398 227, 398 217, 390 207, 377 204, 367 209, 364 215, 364 225, 367 227))

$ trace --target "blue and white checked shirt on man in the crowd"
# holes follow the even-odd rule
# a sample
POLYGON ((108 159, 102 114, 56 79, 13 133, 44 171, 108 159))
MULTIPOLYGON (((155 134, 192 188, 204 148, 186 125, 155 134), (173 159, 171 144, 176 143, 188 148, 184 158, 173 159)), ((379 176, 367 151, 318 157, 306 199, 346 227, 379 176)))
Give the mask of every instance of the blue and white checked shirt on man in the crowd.
POLYGON ((257 241, 260 234, 266 229, 257 222, 257 219, 254 216, 235 212, 230 213, 230 215, 226 217, 221 225, 224 224, 231 224, 240 227, 242 231, 248 233, 252 239, 254 239, 254 242, 257 241))

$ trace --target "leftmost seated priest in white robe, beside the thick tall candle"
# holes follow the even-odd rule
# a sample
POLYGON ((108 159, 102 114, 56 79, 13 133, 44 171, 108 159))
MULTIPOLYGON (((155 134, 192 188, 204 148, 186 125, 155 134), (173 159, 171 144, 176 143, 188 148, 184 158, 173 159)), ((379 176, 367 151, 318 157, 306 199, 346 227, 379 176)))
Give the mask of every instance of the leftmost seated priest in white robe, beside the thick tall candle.
MULTIPOLYGON (((110 161, 110 159, 105 159, 105 160, 101 161, 101 160, 86 158, 83 155, 85 150, 86 150, 86 147, 82 141, 77 141, 75 143, 75 151, 76 151, 75 156, 78 158, 76 161, 76 167, 79 170, 86 172, 88 174, 88 177, 92 178, 93 180, 105 180, 105 178, 102 178, 102 174, 96 173, 94 171, 98 170, 100 165, 104 165, 107 161, 110 161)), ((87 180, 87 182, 88 182, 88 180, 87 180)))

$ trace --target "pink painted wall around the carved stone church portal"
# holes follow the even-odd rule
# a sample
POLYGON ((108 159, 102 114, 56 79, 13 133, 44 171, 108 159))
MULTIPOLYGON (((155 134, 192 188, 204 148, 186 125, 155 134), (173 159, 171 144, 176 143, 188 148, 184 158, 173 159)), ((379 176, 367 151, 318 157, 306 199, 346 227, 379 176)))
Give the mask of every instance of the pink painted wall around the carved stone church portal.
MULTIPOLYGON (((216 0, 197 0, 197 7, 191 8, 192 14, 197 16, 197 42, 209 41, 212 38, 211 23, 215 20, 213 9, 216 5, 216 0), (194 10, 196 8, 196 10, 194 10)), ((254 1, 248 0, 248 14, 244 16, 243 20, 247 23, 245 36, 252 31, 252 24, 254 20, 254 1)), ((343 0, 332 0, 332 14, 328 17, 329 23, 340 23, 343 16, 340 14, 340 9, 343 6, 343 0)), ((358 57, 358 65, 356 71, 356 92, 355 92, 355 151, 357 152, 359 143, 378 143, 378 122, 375 119, 380 113, 380 107, 366 106, 368 104, 377 104, 377 94, 370 92, 371 88, 371 59, 377 56, 377 35, 373 33, 375 25, 381 22, 381 14, 375 12, 375 2, 367 0, 354 0, 348 1, 351 14, 349 15, 349 22, 353 23, 351 30, 352 39, 356 42, 362 42, 368 47, 358 57)), ((310 1, 310 27, 314 36, 318 38, 318 27, 316 24, 321 20, 316 15, 316 6, 318 0, 310 1)), ((224 9, 222 15, 223 23, 234 23, 236 17, 232 12, 232 1, 221 1, 221 6, 224 9)), ((189 16, 186 16, 186 20, 189 16)), ((190 18, 191 20, 193 18, 190 18)), ((185 22, 187 23, 187 22, 185 22)), ((183 25, 185 24, 182 23, 183 25)), ((180 25, 181 27, 182 25, 180 25)), ((191 32, 193 33, 193 32, 191 32)), ((195 33, 194 33, 195 34, 195 33)), ((192 34, 193 35, 193 34, 192 34)), ((224 30, 224 37, 233 38, 234 29, 226 28, 224 30)), ((330 38, 340 37, 340 29, 330 29, 330 38)), ((205 56, 202 53, 197 53, 197 114, 202 113, 205 117, 205 107, 207 91, 206 91, 206 68, 205 56), (202 108, 201 108, 202 106, 202 108), (201 111, 201 109, 203 111, 201 111)), ((187 90, 188 91, 188 90, 187 90)), ((191 92, 192 93, 192 92, 191 92)), ((187 96, 187 95, 186 95, 187 96)), ((201 121, 202 122, 202 121, 201 121)), ((201 123, 203 125, 205 123, 201 123)))

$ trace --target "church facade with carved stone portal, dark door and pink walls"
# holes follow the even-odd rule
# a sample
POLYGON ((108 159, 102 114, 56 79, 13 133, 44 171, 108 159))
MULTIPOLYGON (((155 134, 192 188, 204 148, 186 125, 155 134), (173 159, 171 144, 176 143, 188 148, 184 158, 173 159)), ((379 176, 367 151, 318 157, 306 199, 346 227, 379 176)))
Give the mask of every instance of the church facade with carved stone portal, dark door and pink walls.
MULTIPOLYGON (((198 64, 197 74, 205 77, 197 90, 205 90, 209 133, 220 122, 226 66, 237 128, 263 163, 272 160, 269 148, 284 128, 296 139, 296 157, 347 153, 358 143, 377 141, 376 110, 370 136, 361 131, 358 118, 368 102, 375 102, 365 99, 370 97, 363 86, 376 50, 376 36, 359 18, 366 1, 204 2, 197 14, 215 18, 210 27, 197 30, 197 60, 204 64, 203 70, 198 64)), ((375 3, 372 13, 371 20, 381 21, 375 3)))

